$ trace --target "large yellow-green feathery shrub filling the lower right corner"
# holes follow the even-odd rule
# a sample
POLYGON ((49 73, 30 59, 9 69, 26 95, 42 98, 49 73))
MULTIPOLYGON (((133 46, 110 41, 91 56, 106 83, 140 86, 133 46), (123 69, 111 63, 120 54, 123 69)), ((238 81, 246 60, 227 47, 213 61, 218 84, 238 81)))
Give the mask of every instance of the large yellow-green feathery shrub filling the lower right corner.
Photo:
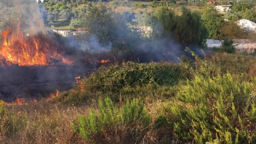
POLYGON ((199 144, 255 143, 255 84, 230 73, 212 78, 196 75, 165 108, 174 134, 180 141, 199 144))

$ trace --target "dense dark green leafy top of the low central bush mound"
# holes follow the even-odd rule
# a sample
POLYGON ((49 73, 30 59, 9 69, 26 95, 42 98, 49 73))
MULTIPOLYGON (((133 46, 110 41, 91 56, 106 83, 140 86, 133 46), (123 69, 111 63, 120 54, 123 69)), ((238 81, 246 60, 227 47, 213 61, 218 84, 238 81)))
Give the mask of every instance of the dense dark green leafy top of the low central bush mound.
POLYGON ((96 73, 85 79, 87 91, 117 92, 125 87, 159 86, 177 84, 182 79, 178 65, 171 63, 149 64, 123 62, 108 67, 100 67, 96 73))

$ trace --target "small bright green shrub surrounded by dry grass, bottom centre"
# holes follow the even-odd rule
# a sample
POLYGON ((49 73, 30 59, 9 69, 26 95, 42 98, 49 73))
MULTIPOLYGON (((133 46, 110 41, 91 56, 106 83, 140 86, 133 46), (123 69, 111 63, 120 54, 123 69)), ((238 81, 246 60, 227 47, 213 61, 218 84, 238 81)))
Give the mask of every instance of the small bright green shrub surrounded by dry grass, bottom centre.
POLYGON ((147 115, 143 103, 134 99, 128 101, 119 109, 114 106, 110 98, 98 101, 99 111, 90 109, 89 115, 81 115, 77 118, 78 125, 72 124, 72 128, 84 139, 93 139, 95 135, 103 135, 104 131, 122 131, 122 126, 135 128, 147 127, 151 118, 147 115), (117 129, 116 129, 117 128, 117 129))

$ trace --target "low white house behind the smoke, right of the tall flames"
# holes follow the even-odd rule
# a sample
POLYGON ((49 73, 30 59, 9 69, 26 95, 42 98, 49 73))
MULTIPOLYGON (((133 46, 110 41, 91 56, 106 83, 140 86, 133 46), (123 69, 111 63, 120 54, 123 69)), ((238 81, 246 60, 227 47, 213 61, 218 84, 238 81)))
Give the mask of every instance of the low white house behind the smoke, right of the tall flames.
POLYGON ((75 30, 74 29, 52 29, 52 30, 62 36, 78 35, 82 32, 86 32, 85 28, 78 28, 75 30))

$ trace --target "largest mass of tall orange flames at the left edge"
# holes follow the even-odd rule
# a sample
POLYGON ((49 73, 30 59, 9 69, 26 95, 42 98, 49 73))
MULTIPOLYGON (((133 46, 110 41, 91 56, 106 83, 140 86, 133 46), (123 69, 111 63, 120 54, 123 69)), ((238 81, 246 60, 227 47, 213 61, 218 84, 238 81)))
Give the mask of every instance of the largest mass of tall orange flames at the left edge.
MULTIPOLYGON (((19 66, 51 65, 51 59, 60 60, 71 65, 73 61, 66 60, 58 53, 56 44, 47 36, 23 36, 20 23, 16 31, 7 30, 2 34, 3 43, 0 45, 0 62, 18 64, 19 66), (45 42, 46 41, 46 42, 45 42)), ((2 64, 3 65, 3 64, 2 64)))

